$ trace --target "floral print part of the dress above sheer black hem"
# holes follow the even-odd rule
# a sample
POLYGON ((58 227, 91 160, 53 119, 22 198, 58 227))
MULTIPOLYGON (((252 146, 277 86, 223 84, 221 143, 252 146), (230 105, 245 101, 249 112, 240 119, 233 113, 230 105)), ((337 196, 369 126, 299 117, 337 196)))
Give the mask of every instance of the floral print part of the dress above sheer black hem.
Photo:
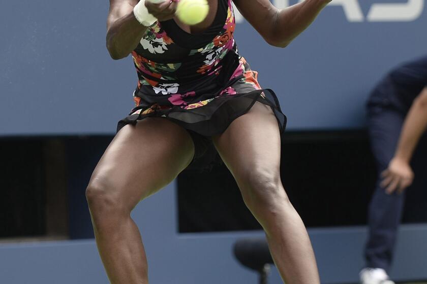
POLYGON ((132 52, 138 74, 131 114, 179 106, 189 110, 218 96, 261 89, 257 73, 238 55, 231 0, 218 0, 214 22, 191 34, 172 20, 148 27, 132 52))

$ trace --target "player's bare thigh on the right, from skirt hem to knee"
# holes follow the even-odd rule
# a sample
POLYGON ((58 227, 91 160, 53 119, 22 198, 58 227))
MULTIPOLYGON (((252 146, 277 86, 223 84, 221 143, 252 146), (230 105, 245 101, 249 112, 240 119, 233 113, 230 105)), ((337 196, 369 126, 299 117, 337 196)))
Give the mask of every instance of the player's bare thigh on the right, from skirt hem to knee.
POLYGON ((240 189, 259 179, 280 182, 280 131, 271 108, 256 102, 227 130, 213 137, 214 144, 240 189))

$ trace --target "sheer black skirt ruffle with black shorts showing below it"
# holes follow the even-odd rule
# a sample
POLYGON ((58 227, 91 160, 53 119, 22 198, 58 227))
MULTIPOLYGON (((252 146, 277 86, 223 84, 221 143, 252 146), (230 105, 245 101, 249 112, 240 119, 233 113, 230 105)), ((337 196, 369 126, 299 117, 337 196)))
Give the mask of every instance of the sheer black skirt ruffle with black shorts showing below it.
MULTIPOLYGON (((287 119, 282 113, 276 94, 270 89, 220 96, 195 109, 186 110, 174 106, 170 109, 158 109, 152 113, 142 115, 141 113, 146 109, 142 108, 140 109, 140 114, 132 114, 120 120, 117 124, 117 132, 125 125, 135 125, 138 120, 147 117, 164 117, 191 133, 196 153, 195 158, 187 169, 208 172, 215 166, 222 164, 221 157, 211 141, 211 136, 223 133, 233 120, 248 113, 257 101, 271 107, 282 134, 285 130, 287 119), (195 137, 195 135, 200 136, 195 137), (200 143, 200 141, 203 143, 200 143)), ((138 107, 132 113, 137 110, 138 107)))

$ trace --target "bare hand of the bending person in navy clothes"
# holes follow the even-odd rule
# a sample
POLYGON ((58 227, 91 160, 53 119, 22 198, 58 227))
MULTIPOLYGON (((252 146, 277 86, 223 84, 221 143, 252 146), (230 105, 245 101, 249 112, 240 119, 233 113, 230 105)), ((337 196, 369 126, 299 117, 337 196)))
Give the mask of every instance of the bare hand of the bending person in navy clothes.
POLYGON ((387 194, 394 191, 402 193, 414 180, 414 172, 409 163, 399 158, 393 158, 381 176, 381 187, 385 188, 387 194))

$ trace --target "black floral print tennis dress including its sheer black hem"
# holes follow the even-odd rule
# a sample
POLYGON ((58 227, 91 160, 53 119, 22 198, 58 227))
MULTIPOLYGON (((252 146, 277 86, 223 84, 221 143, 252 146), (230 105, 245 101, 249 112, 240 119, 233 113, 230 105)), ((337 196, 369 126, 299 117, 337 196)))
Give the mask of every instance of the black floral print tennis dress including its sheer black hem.
POLYGON ((258 73, 238 54, 231 0, 219 0, 212 25, 191 34, 172 20, 147 28, 132 52, 138 84, 136 107, 117 131, 145 117, 166 117, 201 135, 222 133, 255 101, 270 105, 281 131, 286 117, 276 95, 263 90, 258 73))

